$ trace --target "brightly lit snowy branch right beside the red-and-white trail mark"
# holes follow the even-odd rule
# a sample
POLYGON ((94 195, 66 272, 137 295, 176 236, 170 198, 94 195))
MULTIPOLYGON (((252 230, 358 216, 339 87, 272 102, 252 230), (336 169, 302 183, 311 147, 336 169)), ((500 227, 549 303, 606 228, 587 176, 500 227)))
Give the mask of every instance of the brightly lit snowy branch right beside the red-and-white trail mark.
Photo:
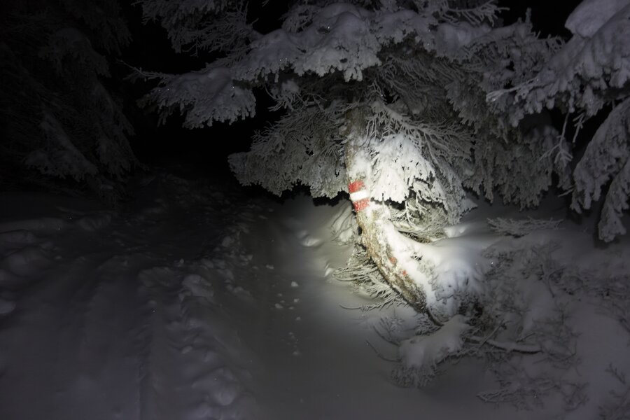
POLYGON ((470 159, 470 133, 454 123, 412 120, 379 101, 371 109, 372 197, 405 202, 413 194, 458 218, 465 195, 456 165, 470 159))

